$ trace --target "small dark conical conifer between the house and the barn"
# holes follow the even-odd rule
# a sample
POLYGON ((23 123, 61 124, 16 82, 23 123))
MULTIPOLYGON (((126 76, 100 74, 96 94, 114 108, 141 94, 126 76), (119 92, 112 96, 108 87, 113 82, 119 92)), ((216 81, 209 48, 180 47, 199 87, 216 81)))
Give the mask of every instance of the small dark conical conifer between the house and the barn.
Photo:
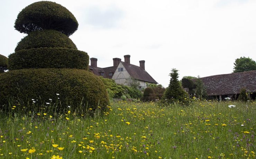
POLYGON ((182 88, 178 78, 178 70, 173 68, 172 72, 170 73, 171 79, 168 88, 166 88, 164 97, 167 100, 176 99, 176 100, 183 100, 184 97, 187 95, 185 90, 182 88))

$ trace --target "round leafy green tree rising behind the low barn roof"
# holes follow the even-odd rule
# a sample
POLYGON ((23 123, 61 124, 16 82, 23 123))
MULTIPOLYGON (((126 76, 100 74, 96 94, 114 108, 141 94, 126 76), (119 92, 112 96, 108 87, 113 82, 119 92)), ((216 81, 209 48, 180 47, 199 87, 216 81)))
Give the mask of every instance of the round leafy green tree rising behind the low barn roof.
POLYGON ((237 58, 234 65, 233 73, 256 70, 256 62, 249 57, 237 58))

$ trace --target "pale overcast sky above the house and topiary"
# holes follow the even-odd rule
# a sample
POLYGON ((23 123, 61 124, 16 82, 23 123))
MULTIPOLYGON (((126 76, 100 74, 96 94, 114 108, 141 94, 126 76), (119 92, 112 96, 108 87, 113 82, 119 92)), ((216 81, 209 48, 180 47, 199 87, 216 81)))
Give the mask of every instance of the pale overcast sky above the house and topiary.
MULTIPOLYGON (((0 54, 26 36, 14 29, 18 13, 35 0, 2 0, 0 54)), ((172 68, 183 76, 228 74, 236 58, 256 60, 256 0, 55 0, 79 27, 70 36, 98 67, 130 55, 167 87, 172 68)))

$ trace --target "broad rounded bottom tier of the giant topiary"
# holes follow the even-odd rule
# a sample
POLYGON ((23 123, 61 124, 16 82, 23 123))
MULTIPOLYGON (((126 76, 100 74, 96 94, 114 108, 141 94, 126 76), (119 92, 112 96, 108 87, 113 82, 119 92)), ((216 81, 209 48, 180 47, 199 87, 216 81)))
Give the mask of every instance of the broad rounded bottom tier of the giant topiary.
MULTIPOLYGON (((109 104, 106 88, 101 79, 82 69, 20 69, 0 74, 0 105, 8 104, 9 97, 23 102, 45 104, 60 94, 62 105, 82 104, 96 109, 109 104)), ((66 107, 65 106, 65 107, 66 107)), ((58 108, 62 109, 62 108, 58 108)))

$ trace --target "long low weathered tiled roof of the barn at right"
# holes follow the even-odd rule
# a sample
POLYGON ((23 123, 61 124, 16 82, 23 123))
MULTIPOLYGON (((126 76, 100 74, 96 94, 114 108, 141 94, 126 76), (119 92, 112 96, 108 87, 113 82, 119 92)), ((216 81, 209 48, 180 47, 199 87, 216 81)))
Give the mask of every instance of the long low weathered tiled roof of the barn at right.
POLYGON ((256 92, 256 71, 239 72, 202 77, 207 88, 207 95, 225 95, 240 93, 241 88, 247 92, 256 92))

